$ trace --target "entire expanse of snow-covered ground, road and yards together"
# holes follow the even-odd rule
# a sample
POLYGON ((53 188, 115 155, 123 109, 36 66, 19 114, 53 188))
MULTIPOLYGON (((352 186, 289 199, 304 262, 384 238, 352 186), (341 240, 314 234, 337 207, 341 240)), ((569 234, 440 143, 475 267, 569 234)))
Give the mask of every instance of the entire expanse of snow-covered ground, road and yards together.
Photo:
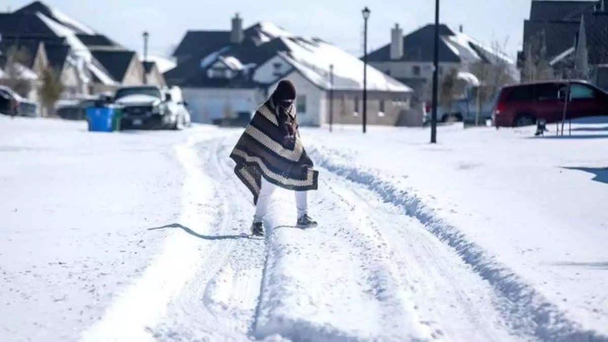
POLYGON ((603 126, 305 129, 254 239, 241 130, 0 117, 0 341, 608 341, 603 126))

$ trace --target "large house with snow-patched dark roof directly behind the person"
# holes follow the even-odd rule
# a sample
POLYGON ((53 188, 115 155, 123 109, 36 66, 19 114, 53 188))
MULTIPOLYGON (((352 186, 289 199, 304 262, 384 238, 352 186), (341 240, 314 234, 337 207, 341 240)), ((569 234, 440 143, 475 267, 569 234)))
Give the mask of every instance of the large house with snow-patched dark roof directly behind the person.
MULTIPOLYGON (((298 89, 300 125, 318 127, 330 113, 334 123, 361 124, 364 65, 319 38, 297 37, 268 22, 244 29, 237 14, 230 30, 188 31, 173 57, 178 65, 165 79, 182 87, 194 121, 248 120, 286 78, 298 89)), ((412 89, 371 66, 367 74, 368 123, 395 125, 408 109, 412 89)))

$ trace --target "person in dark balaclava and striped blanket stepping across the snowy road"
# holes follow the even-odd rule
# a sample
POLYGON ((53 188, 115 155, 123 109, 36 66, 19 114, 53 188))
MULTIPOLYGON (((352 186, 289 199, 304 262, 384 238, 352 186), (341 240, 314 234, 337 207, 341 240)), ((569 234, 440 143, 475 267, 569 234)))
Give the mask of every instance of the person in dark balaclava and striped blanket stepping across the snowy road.
POLYGON ((251 230, 257 236, 264 234, 264 216, 277 187, 294 190, 297 227, 317 225, 308 215, 308 190, 317 190, 319 172, 300 139, 295 95, 295 86, 289 80, 278 82, 230 153, 236 162, 235 174, 254 197, 251 230))

